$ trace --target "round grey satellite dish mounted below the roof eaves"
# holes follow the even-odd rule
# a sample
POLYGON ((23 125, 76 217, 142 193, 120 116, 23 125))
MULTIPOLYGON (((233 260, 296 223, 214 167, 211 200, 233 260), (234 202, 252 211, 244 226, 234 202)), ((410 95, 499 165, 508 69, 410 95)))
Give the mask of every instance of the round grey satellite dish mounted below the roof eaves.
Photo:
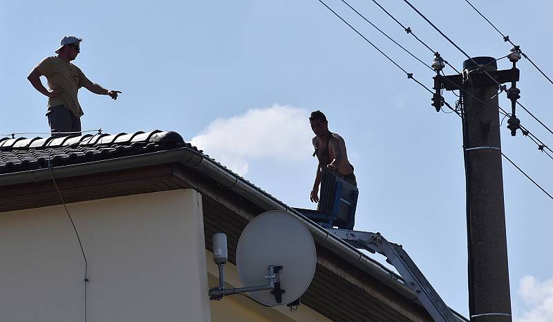
POLYGON ((306 292, 315 275, 317 252, 311 233, 302 222, 285 211, 267 211, 245 227, 236 247, 236 267, 243 285, 267 282, 269 265, 282 266, 280 287, 285 290, 277 303, 270 290, 250 292, 265 305, 285 305, 306 292))

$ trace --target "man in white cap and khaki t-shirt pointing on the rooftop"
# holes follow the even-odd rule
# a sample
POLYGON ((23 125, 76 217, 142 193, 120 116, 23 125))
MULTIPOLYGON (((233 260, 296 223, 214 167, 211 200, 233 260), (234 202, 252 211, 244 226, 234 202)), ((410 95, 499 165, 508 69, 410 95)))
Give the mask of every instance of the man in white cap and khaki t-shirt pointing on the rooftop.
POLYGON ((79 54, 81 38, 65 36, 61 46, 55 53, 57 56, 46 57, 32 69, 27 79, 40 93, 48 96, 48 124, 52 136, 69 135, 73 132, 81 133, 80 117, 84 114, 77 100, 79 88, 84 87, 98 95, 109 95, 117 100, 120 91, 109 91, 99 84, 91 82, 82 70, 71 64, 79 54), (49 90, 44 87, 40 77, 45 76, 49 90))

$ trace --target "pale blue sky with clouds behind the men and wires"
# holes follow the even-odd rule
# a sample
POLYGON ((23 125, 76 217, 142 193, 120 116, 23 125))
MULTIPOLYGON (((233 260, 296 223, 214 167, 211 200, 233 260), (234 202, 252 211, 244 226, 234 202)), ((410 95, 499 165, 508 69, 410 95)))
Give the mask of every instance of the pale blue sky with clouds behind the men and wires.
MULTIPOLYGON (((431 70, 341 1, 326 2, 432 86, 431 70)), ((464 0, 447 6, 412 2, 471 56, 502 57, 511 48, 464 0)), ((432 61, 431 53, 372 1, 349 3, 413 54, 432 61)), ((474 3, 553 76, 547 36, 553 3, 474 3)), ((403 1, 382 4, 447 61, 462 66, 465 57, 403 1)), ((356 169, 355 229, 380 231, 404 245, 444 301, 468 314, 459 117, 436 113, 429 93, 319 1, 1 0, 0 133, 48 131, 46 97, 26 76, 42 58, 55 55, 63 35, 84 39, 74 63, 88 78, 123 92, 113 101, 83 88, 83 129, 177 131, 293 207, 315 207, 309 192, 316 161, 306 117, 324 111, 330 129, 345 138, 356 169)), ((498 65, 510 68, 506 59, 498 65)), ((553 126, 547 95, 553 85, 528 61, 518 67, 521 103, 553 126)), ((455 102, 451 93, 446 98, 455 102)), ((500 105, 508 110, 505 95, 500 105)), ((553 141, 527 113, 520 111, 519 118, 545 144, 553 141)), ((512 138, 506 122, 502 144, 509 158, 553 191, 553 160, 528 138, 512 138)), ((503 177, 515 320, 553 321, 553 259, 547 247, 552 200, 505 161, 503 177)))

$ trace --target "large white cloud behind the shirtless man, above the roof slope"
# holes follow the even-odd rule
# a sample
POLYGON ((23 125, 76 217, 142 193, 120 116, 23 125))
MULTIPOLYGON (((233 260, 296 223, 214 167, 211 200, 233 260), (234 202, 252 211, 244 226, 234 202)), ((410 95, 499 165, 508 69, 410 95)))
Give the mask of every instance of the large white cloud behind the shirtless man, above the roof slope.
POLYGON ((214 120, 191 140, 240 175, 251 160, 300 162, 312 152, 309 112, 281 106, 254 108, 245 114, 214 120))

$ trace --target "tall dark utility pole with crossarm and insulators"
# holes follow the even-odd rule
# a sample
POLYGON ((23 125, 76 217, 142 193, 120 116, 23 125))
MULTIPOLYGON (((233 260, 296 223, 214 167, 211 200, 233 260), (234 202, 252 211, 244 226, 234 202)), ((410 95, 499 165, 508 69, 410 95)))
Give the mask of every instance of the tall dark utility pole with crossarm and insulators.
MULTIPOLYGON (((498 83, 515 84, 518 77, 515 66, 510 70, 497 70, 492 57, 467 59, 462 75, 440 76, 438 70, 434 77, 436 93, 442 88, 462 88, 460 112, 467 180, 469 313, 471 321, 475 322, 512 321, 498 83)), ((437 110, 441 100, 435 95, 433 105, 437 110)), ((512 114, 512 122, 518 121, 512 114)), ((509 125, 512 122, 509 119, 509 125)))

